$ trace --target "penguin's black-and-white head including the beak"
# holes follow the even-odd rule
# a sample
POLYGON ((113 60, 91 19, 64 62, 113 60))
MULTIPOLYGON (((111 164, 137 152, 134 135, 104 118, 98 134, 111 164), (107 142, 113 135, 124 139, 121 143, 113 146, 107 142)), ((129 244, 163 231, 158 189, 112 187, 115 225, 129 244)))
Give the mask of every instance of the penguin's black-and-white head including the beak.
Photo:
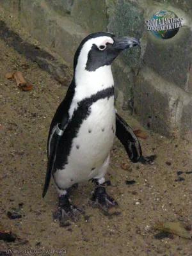
POLYGON ((111 65, 124 49, 140 44, 134 37, 117 37, 111 33, 99 32, 86 36, 74 56, 74 70, 81 67, 89 72, 111 65))

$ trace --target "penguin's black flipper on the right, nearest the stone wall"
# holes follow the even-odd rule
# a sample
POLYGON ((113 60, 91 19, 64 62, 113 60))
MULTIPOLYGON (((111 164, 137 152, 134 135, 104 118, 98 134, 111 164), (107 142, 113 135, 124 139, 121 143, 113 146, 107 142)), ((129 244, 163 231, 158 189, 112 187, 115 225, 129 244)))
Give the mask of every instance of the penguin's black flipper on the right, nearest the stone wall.
POLYGON ((116 137, 133 163, 137 163, 142 156, 140 141, 132 131, 131 127, 116 113, 116 137))

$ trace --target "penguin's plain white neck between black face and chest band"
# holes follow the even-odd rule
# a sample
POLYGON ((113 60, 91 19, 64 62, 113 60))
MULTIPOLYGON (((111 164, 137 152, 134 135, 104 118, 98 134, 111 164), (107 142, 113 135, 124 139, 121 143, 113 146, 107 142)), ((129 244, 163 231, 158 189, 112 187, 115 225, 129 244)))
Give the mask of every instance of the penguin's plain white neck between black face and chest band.
POLYGON ((77 102, 90 98, 97 92, 114 86, 111 65, 97 68, 94 72, 77 69, 75 72, 75 99, 77 102))

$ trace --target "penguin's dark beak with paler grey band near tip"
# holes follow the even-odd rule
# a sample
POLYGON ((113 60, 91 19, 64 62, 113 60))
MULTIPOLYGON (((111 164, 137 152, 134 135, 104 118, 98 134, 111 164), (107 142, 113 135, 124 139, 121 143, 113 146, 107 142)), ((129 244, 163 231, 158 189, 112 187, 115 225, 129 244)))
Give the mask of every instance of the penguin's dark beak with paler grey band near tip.
POLYGON ((124 50, 140 44, 140 40, 130 36, 120 36, 113 38, 113 48, 118 50, 124 50))

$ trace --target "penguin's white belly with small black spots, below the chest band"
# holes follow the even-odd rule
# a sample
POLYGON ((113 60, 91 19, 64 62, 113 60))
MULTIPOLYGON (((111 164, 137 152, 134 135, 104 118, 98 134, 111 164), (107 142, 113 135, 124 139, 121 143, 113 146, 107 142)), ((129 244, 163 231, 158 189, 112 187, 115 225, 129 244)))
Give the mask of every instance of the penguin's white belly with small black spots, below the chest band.
POLYGON ((92 179, 102 173, 115 138, 114 97, 100 99, 90 107, 90 115, 83 120, 72 141, 68 163, 54 174, 62 189, 76 182, 92 179))

